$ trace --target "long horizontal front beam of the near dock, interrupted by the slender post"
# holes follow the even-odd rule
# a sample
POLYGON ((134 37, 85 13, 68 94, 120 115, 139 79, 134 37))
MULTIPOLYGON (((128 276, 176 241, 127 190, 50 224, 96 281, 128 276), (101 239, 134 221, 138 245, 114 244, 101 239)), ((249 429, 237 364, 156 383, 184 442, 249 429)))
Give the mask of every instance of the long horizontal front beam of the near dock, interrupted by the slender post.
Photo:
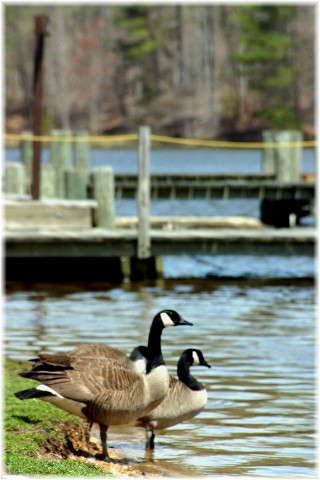
MULTIPOLYGON (((193 229, 150 231, 154 256, 163 255, 308 255, 315 256, 316 229, 193 229)), ((5 232, 9 257, 135 256, 136 229, 5 232)))

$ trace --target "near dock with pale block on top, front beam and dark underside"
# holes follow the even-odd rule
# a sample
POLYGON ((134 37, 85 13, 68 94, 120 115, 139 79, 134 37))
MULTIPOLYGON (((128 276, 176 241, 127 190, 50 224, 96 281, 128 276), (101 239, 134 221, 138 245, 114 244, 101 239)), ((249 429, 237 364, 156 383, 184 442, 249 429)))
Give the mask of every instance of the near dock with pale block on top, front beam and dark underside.
POLYGON ((315 256, 316 230, 267 227, 246 217, 149 217, 148 255, 140 254, 140 219, 116 217, 96 227, 98 202, 5 202, 8 280, 140 280, 161 275, 168 255, 315 256))

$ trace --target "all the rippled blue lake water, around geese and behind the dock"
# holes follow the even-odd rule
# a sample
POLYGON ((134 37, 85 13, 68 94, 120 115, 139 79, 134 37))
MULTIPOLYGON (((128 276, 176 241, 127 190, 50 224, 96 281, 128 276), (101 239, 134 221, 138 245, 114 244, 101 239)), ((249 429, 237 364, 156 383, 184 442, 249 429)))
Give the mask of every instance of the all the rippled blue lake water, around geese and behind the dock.
MULTIPOLYGON (((255 151, 223 155, 216 150, 153 152, 151 170, 261 171, 255 151)), ((106 161, 115 171, 132 172, 136 152, 92 152, 91 167, 106 161)), ((303 170, 314 171, 312 151, 303 170)), ((151 202, 153 215, 186 215, 186 210, 188 215, 258 218, 259 201, 151 202)), ((116 211, 136 214, 136 203, 119 200, 116 211)), ((129 353, 146 343, 157 311, 176 309, 194 326, 164 331, 164 357, 175 374, 182 350, 203 351, 212 368, 195 367, 193 374, 206 385, 207 406, 196 418, 159 434, 152 459, 145 458, 142 429, 112 429, 110 443, 123 456, 159 471, 315 476, 314 259, 179 256, 163 262, 165 278, 153 283, 8 284, 5 353, 26 360, 39 351, 92 342, 129 353)))

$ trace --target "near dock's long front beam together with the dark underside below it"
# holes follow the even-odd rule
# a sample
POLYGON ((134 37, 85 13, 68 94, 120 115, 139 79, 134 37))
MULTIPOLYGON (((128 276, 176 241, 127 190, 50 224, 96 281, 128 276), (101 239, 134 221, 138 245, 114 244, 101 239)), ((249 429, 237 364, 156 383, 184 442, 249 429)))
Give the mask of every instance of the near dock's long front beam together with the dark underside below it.
POLYGON ((139 259, 136 228, 6 232, 6 278, 121 282, 158 278, 166 255, 315 256, 316 231, 305 227, 151 229, 150 242, 151 256, 139 259))

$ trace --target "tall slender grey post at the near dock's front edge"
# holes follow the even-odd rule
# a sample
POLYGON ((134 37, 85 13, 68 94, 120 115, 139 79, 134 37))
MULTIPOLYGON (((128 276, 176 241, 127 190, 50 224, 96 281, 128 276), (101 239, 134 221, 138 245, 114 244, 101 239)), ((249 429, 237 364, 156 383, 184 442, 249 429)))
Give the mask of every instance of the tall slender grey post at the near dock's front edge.
POLYGON ((150 204, 150 127, 139 128, 138 172, 138 259, 151 255, 149 204, 150 204))

